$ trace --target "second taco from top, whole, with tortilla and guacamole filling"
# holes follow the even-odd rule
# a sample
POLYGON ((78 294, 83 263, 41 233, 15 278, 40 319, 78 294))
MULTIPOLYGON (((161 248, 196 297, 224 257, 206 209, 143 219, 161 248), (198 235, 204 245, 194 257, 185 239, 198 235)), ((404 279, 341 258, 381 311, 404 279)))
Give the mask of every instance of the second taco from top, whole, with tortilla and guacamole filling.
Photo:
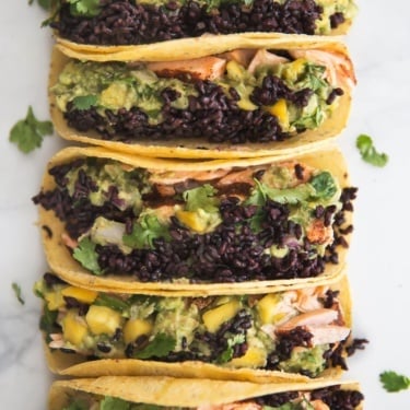
POLYGON ((128 61, 99 62, 55 48, 56 130, 155 157, 283 155, 323 145, 345 125, 353 67, 342 44, 291 37, 196 43, 201 57, 178 47, 163 60, 127 54, 128 61))

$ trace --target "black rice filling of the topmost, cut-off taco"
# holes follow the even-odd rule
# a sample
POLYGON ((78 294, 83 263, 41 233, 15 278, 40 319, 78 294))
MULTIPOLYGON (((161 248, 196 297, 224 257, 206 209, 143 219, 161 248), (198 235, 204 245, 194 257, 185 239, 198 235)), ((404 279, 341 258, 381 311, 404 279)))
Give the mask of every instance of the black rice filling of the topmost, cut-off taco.
POLYGON ((350 24, 352 0, 59 0, 50 25, 80 44, 138 45, 206 33, 331 34, 350 24))

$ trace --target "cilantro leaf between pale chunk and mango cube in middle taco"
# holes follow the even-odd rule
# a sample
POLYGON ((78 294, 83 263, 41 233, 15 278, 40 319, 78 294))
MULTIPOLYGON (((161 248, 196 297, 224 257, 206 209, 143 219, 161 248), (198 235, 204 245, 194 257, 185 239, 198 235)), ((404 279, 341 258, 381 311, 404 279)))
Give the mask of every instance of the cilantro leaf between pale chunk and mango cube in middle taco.
POLYGON ((168 227, 160 222, 156 215, 141 214, 132 225, 132 232, 122 236, 124 244, 131 248, 153 248, 153 241, 163 237, 169 241, 168 227))

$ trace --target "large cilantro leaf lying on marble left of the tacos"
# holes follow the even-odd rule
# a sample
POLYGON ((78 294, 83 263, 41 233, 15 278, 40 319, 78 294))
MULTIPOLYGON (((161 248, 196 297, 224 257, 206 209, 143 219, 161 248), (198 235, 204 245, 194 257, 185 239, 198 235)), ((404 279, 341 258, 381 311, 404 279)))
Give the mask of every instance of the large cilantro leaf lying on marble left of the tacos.
POLYGON ((28 107, 25 119, 17 121, 10 131, 9 140, 17 144, 20 151, 25 154, 42 147, 43 138, 52 133, 50 121, 39 121, 28 107))

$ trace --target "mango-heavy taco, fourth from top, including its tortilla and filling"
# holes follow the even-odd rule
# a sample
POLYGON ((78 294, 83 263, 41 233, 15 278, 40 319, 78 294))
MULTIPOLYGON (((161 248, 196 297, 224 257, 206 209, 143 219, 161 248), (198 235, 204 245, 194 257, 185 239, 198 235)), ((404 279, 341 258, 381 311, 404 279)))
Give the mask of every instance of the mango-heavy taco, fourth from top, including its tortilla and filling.
POLYGON ((347 370, 351 300, 344 276, 282 292, 174 296, 96 292, 46 273, 35 293, 44 300, 48 364, 61 375, 265 383, 338 377, 347 370))

